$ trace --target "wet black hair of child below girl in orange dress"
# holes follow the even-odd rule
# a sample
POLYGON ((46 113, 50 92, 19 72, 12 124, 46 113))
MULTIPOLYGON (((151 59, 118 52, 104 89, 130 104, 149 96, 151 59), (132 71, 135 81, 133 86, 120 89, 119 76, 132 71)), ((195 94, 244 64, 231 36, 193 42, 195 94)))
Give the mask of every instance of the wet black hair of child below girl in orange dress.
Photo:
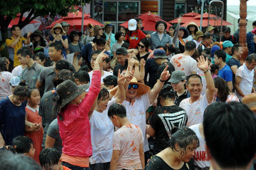
POLYGON ((29 150, 34 146, 34 142, 29 137, 16 136, 12 140, 12 145, 16 146, 17 153, 29 153, 29 150))

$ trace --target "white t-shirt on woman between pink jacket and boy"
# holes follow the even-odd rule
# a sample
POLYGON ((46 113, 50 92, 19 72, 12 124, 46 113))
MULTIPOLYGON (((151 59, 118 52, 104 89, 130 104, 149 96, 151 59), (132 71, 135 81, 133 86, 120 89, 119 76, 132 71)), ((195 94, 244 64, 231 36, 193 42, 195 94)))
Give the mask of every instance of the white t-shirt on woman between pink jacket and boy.
POLYGON ((90 117, 92 146, 90 164, 111 161, 114 125, 108 117, 108 109, 113 103, 116 103, 116 99, 110 100, 107 109, 102 113, 94 110, 90 117))

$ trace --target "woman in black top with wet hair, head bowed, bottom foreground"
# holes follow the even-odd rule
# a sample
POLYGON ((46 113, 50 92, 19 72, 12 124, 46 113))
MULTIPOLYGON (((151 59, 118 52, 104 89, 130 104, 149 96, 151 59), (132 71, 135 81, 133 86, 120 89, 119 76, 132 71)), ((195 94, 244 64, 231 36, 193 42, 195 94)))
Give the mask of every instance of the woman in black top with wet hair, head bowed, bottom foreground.
POLYGON ((168 148, 154 155, 144 170, 194 170, 193 156, 200 146, 196 133, 188 128, 173 127, 168 148))

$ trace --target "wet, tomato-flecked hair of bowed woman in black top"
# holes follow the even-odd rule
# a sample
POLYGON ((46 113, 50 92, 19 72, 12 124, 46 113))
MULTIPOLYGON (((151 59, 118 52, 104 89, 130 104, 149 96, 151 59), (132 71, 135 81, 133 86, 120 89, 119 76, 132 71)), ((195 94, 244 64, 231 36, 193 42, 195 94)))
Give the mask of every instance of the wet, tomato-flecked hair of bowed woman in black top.
POLYGON ((200 146, 199 139, 197 138, 196 133, 187 126, 183 126, 180 128, 175 126, 171 129, 171 139, 168 142, 168 146, 171 148, 172 151, 179 151, 176 150, 175 144, 179 144, 181 157, 185 157, 190 149, 196 149, 200 146), (196 142, 196 145, 194 145, 194 142, 196 142))

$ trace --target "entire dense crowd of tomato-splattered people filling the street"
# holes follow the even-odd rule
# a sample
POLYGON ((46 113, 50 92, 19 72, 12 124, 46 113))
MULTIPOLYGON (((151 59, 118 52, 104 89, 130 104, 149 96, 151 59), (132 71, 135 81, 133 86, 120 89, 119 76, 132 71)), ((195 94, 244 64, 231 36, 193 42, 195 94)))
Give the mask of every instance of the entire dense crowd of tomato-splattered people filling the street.
POLYGON ((256 21, 245 63, 229 27, 204 33, 179 17, 147 34, 142 22, 115 34, 110 22, 88 24, 84 37, 56 23, 49 41, 12 26, 0 58, 1 169, 253 168, 256 21))

